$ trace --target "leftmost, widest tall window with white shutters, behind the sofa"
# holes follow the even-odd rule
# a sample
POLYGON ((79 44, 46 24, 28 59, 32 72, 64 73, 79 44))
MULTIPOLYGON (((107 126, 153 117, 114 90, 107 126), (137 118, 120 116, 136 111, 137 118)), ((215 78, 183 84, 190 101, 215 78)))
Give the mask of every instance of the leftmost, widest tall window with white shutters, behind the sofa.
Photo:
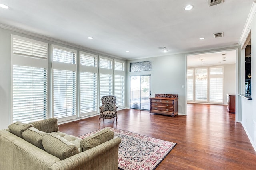
POLYGON ((47 118, 48 44, 12 35, 12 122, 47 118))

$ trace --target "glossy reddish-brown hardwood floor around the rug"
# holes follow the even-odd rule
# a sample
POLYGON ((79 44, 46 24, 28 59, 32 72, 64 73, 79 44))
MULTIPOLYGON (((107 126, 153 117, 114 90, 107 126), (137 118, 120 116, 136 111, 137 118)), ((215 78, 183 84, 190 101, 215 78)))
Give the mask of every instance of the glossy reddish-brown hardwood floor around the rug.
POLYGON ((177 143, 156 170, 211 169, 256 170, 256 153, 241 123, 226 106, 188 104, 187 116, 149 114, 148 111, 118 111, 118 123, 98 116, 59 125, 74 136, 114 127, 177 143))

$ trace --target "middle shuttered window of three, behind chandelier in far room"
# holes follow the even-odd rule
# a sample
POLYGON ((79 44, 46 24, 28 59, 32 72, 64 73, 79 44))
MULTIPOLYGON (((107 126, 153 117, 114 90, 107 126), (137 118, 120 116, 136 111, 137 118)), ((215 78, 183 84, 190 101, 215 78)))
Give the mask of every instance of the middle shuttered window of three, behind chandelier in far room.
POLYGON ((196 68, 196 76, 198 76, 201 72, 206 75, 205 79, 196 78, 195 82, 195 98, 197 102, 208 102, 208 69, 207 68, 196 68))

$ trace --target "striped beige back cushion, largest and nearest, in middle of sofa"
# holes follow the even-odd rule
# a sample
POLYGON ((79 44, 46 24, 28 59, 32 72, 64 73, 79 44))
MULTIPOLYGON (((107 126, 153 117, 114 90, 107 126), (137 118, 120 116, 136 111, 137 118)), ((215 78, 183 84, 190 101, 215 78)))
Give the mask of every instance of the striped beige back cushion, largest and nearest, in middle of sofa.
POLYGON ((76 145, 60 137, 56 132, 43 136, 42 143, 46 152, 58 157, 60 160, 79 153, 76 145))

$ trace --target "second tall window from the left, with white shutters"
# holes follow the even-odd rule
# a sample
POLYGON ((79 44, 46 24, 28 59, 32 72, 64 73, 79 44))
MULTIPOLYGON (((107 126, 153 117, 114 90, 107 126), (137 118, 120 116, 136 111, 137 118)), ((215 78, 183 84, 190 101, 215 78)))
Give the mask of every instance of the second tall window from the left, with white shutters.
POLYGON ((76 51, 53 46, 53 117, 76 115, 76 51))

